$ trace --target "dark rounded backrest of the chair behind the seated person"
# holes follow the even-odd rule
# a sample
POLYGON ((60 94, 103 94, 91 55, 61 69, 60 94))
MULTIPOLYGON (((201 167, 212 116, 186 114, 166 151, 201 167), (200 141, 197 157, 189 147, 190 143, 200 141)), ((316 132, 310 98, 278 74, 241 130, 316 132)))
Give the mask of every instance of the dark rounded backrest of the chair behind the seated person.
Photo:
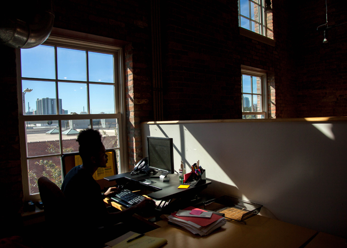
POLYGON ((54 223, 66 217, 67 204, 65 195, 55 183, 46 177, 39 178, 38 185, 45 209, 45 221, 49 225, 55 225, 54 223))

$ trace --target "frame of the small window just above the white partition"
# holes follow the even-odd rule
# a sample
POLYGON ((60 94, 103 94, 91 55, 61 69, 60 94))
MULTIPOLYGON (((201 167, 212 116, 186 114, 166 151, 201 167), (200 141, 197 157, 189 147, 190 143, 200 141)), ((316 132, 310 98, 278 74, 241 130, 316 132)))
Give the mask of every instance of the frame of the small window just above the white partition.
MULTIPOLYGON (((252 97, 253 99, 253 97, 252 97)), ((242 119, 243 116, 252 116, 252 115, 264 115, 264 119, 268 119, 268 107, 267 107, 267 80, 266 80, 266 73, 258 72, 254 70, 248 70, 248 69, 241 69, 241 112, 242 112, 242 119), (261 78, 261 107, 262 112, 243 112, 243 94, 250 94, 250 95, 258 95, 254 93, 243 93, 243 87, 242 87, 242 75, 247 76, 255 76, 261 78)), ((252 100, 253 102, 253 100, 252 100)), ((259 120, 259 119, 258 119, 259 120)))

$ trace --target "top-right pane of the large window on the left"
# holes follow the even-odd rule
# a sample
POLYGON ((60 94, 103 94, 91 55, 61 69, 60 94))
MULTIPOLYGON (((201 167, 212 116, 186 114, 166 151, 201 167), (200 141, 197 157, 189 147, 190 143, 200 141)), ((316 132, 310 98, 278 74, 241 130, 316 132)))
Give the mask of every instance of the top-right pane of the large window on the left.
POLYGON ((88 52, 89 81, 114 83, 114 59, 112 54, 88 52))

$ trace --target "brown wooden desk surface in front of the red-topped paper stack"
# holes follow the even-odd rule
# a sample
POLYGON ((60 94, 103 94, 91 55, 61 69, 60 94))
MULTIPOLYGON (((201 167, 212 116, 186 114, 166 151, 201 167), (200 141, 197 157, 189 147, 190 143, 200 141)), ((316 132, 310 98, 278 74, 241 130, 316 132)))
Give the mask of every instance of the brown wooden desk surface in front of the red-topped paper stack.
POLYGON ((165 248, 299 248, 316 233, 308 228, 260 215, 247 219, 246 223, 227 221, 219 230, 200 237, 163 220, 156 223, 161 228, 146 235, 166 238, 168 244, 165 248))

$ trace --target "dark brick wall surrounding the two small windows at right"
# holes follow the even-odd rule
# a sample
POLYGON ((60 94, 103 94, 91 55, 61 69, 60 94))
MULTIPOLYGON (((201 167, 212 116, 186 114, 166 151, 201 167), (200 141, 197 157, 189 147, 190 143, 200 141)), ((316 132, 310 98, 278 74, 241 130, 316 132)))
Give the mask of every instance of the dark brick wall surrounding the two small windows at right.
POLYGON ((239 34, 237 1, 165 2, 161 13, 165 120, 241 118, 241 65, 269 72, 268 87, 276 94, 269 116, 296 117, 289 1, 273 3, 275 47, 239 34))

